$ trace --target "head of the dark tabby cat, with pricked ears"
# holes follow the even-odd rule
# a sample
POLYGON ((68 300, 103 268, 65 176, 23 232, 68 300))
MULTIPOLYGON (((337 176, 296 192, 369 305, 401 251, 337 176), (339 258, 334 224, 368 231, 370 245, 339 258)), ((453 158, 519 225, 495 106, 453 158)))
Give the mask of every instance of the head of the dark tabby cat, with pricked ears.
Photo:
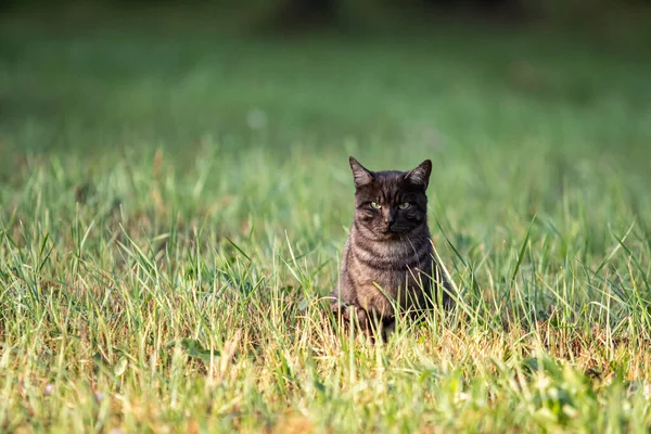
POLYGON ((378 239, 394 239, 427 225, 427 196, 432 162, 410 171, 370 171, 349 158, 355 180, 355 221, 378 239))

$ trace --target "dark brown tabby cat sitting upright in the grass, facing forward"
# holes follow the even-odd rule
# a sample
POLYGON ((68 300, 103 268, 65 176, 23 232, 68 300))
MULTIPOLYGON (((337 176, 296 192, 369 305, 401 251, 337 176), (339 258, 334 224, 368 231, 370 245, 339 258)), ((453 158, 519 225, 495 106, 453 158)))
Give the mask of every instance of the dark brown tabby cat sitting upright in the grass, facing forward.
MULTIPOLYGON (((425 190, 426 159, 411 171, 370 171, 349 158, 355 179, 355 218, 344 247, 333 310, 357 319, 365 331, 394 319, 392 299, 407 310, 432 307, 436 289, 449 285, 434 261, 425 190)), ((443 302, 449 307, 448 291, 443 302)))

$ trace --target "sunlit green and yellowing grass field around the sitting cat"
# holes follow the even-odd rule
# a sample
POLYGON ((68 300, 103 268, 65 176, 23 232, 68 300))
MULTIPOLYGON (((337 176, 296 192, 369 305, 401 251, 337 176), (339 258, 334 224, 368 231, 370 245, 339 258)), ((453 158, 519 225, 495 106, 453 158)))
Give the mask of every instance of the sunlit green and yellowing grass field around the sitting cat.
POLYGON ((651 429, 648 52, 30 23, 0 25, 0 431, 651 429), (323 308, 349 154, 434 161, 458 291, 382 345, 323 308))

